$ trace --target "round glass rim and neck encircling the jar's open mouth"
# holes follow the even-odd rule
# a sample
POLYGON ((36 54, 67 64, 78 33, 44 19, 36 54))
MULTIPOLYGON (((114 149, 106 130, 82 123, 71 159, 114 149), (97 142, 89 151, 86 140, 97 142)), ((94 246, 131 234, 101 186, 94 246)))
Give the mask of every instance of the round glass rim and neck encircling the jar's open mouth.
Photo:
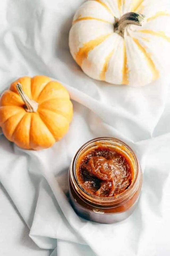
MULTIPOLYGON (((88 148, 88 149, 90 149, 90 148, 88 148)), ((119 150, 121 151, 121 149, 119 149, 119 150)), ((84 152, 86 152, 86 151, 84 151, 84 152)), ((70 180, 75 187, 75 190, 76 190, 75 192, 77 194, 79 194, 79 196, 82 198, 83 201, 91 203, 91 204, 95 204, 96 207, 97 207, 97 205, 99 205, 100 207, 101 207, 101 205, 103 205, 105 207, 114 205, 116 207, 117 205, 120 205, 120 204, 124 203, 125 201, 127 201, 129 199, 129 197, 132 197, 133 194, 135 193, 135 191, 138 187, 138 184, 136 184, 137 183, 136 181, 138 178, 138 173, 139 173, 139 163, 138 163, 137 157, 136 157, 134 151, 131 149, 131 147, 129 147, 125 142, 123 142, 117 138, 114 138, 114 137, 98 137, 98 138, 91 139, 90 141, 87 141, 86 143, 84 143, 78 149, 78 151, 75 153, 73 160, 71 162, 71 167, 70 167, 70 180), (126 153, 129 152, 130 156, 133 158, 133 161, 134 161, 134 166, 133 166, 134 178, 133 178, 132 183, 130 184, 128 189, 126 189, 124 192, 122 192, 121 194, 118 194, 114 197, 97 197, 94 195, 89 195, 79 185, 79 183, 77 182, 77 178, 76 178, 76 173, 75 173, 76 163, 77 163, 78 157, 80 156, 81 151, 83 149, 85 149, 86 147, 90 146, 92 143, 96 143, 96 146, 97 146, 97 142, 101 143, 102 141, 107 142, 109 146, 114 145, 114 144, 111 144, 111 142, 115 143, 115 146, 116 146, 116 143, 117 143, 117 145, 119 144, 119 145, 123 146, 124 149, 126 150, 126 153)))

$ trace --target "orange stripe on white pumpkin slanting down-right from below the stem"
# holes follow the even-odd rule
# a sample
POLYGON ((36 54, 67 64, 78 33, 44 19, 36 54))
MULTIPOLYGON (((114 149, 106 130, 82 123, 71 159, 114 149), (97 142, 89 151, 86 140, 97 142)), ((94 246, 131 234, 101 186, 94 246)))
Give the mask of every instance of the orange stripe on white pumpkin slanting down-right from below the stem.
POLYGON ((155 64, 152 61, 151 57, 148 55, 146 49, 139 43, 138 39, 136 39, 136 38, 132 38, 132 39, 135 42, 135 44, 138 46, 139 50, 142 51, 142 53, 143 53, 143 55, 146 59, 147 65, 150 67, 150 70, 152 71, 152 75, 153 75, 152 80, 158 79, 159 78, 159 72, 156 69, 155 64))

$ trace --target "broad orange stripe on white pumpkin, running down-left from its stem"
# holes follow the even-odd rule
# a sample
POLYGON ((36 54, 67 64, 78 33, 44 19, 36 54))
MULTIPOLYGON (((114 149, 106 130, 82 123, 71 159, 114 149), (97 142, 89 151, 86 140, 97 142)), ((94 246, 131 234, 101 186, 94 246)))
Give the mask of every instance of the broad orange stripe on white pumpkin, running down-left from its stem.
POLYGON ((88 53, 93 50, 96 46, 100 45, 107 39, 112 33, 101 35, 95 39, 88 41, 87 43, 83 44, 83 47, 80 47, 78 52, 75 54, 75 61, 79 66, 82 65, 84 59, 88 57, 88 53))

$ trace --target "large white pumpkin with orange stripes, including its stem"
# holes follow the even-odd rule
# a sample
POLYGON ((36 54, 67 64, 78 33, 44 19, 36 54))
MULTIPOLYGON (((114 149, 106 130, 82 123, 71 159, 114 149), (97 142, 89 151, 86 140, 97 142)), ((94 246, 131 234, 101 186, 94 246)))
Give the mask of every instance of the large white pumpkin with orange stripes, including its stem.
POLYGON ((170 10, 161 0, 89 0, 76 12, 70 52, 88 76, 142 86, 169 72, 170 10))

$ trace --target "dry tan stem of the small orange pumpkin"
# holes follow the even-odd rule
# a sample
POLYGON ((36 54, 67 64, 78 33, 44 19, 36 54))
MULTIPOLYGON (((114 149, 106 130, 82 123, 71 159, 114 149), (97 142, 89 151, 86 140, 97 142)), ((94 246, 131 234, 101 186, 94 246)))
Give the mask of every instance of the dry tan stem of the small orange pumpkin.
POLYGON ((22 98, 23 102, 25 103, 25 110, 30 113, 36 112, 38 109, 38 103, 28 98, 28 96, 24 93, 22 85, 20 83, 17 83, 16 89, 20 97, 22 98))

